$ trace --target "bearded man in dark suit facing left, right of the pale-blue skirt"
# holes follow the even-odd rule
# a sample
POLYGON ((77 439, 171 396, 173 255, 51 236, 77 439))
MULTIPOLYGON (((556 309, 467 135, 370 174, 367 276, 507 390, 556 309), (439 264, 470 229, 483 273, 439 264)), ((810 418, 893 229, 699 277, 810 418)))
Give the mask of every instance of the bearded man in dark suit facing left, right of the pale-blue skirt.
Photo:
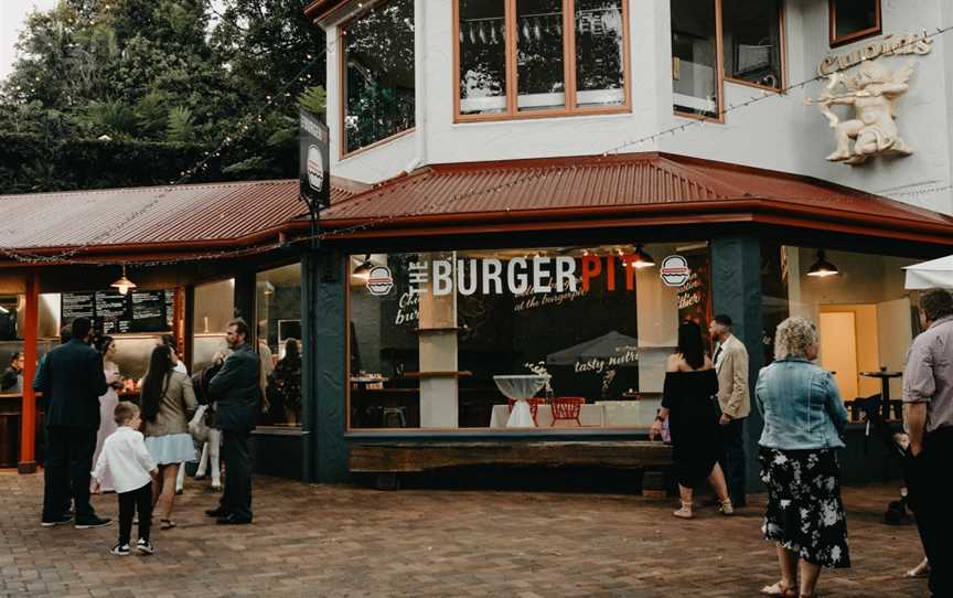
POLYGON ((228 322, 225 341, 232 354, 208 381, 208 398, 215 402, 215 427, 222 430, 225 491, 217 509, 205 513, 217 523, 251 523, 251 430, 261 406, 258 355, 246 342, 248 324, 228 322))

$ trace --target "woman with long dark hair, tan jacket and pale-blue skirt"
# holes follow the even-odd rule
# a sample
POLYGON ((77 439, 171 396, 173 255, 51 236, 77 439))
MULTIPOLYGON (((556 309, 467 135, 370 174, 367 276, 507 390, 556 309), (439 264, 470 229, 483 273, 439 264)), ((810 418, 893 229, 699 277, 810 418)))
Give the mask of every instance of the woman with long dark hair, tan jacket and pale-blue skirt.
POLYGON ((175 371, 175 353, 169 345, 152 350, 142 380, 141 406, 146 447, 159 466, 159 478, 152 484, 153 512, 159 513, 159 528, 170 530, 175 527, 171 516, 179 467, 195 460, 188 427, 189 414, 195 410, 195 391, 189 376, 175 371))

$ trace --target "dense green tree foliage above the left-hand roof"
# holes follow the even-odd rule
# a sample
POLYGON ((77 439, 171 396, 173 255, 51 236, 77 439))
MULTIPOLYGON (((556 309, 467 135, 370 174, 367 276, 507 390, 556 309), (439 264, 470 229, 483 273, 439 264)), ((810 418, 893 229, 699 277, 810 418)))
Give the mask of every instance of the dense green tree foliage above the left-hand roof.
POLYGON ((193 180, 295 177, 298 103, 324 104, 324 38, 304 4, 60 0, 32 13, 0 86, 0 136, 20 150, 0 152, 4 192, 168 183, 212 151, 193 180))

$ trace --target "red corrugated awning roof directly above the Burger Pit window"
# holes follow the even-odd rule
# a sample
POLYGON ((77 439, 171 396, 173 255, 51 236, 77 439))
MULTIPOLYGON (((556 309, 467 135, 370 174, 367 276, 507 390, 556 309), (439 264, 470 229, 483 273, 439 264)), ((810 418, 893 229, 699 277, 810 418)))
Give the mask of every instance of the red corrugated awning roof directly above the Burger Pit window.
POLYGON ((953 217, 826 181, 665 153, 435 164, 332 205, 354 237, 763 222, 953 245, 953 217))

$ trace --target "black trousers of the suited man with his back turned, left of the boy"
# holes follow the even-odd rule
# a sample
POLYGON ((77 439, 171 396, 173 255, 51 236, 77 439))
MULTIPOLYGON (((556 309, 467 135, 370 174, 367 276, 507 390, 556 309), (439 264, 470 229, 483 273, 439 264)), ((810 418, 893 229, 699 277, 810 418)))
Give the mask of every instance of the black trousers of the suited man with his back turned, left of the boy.
POLYGON ((69 498, 76 519, 95 515, 89 504, 89 471, 96 450, 96 430, 50 427, 46 429, 46 462, 43 470, 43 521, 63 517, 69 498))

